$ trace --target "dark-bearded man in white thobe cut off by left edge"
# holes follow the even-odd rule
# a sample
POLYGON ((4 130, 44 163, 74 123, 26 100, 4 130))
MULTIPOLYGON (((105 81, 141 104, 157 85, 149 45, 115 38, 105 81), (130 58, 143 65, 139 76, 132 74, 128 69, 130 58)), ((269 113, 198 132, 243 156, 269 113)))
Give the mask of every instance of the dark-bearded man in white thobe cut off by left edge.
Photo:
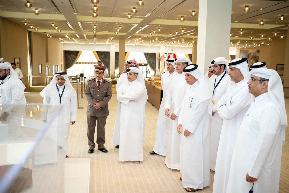
POLYGON ((21 104, 26 104, 24 96, 25 86, 18 79, 18 75, 14 72, 12 66, 8 62, 0 64, 0 103, 4 108, 0 116, 0 121, 6 121, 10 116, 21 116, 23 112, 16 110, 21 104))

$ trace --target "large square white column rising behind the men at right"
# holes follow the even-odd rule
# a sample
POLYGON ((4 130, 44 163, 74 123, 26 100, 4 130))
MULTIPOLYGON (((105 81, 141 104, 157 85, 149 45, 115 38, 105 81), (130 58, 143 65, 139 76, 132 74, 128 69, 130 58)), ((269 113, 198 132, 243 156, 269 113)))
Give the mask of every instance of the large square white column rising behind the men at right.
POLYGON ((229 60, 232 0, 199 1, 197 64, 202 73, 216 57, 229 60))

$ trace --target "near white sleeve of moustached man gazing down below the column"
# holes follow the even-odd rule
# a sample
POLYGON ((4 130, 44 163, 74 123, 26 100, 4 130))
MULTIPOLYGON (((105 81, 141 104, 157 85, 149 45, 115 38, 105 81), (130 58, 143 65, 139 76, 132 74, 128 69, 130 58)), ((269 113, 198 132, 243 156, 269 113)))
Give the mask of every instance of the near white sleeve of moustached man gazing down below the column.
POLYGON ((197 106, 197 110, 194 111, 194 114, 189 115, 190 118, 192 119, 192 121, 191 121, 190 125, 188 126, 188 128, 186 128, 186 129, 188 131, 190 131, 191 133, 194 133, 194 131, 198 127, 199 123, 201 122, 202 118, 204 117, 205 113, 207 113, 209 102, 210 102, 210 99, 201 102, 197 106))

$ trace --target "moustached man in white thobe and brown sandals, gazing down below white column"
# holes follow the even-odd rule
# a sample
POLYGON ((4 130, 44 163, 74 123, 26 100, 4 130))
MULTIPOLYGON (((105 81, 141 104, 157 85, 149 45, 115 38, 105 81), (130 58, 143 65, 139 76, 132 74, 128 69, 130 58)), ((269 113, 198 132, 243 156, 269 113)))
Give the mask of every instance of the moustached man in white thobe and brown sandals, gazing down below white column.
POLYGON ((183 188, 196 192, 210 185, 211 92, 197 64, 184 68, 188 83, 178 120, 183 188))

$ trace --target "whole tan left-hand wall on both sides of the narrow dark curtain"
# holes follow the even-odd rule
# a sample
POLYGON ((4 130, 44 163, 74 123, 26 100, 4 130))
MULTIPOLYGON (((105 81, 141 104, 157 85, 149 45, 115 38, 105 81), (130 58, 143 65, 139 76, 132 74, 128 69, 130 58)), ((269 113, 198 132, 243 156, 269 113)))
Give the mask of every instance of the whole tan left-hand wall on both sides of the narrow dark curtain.
MULTIPOLYGON (((14 62, 14 57, 19 57, 23 75, 28 75, 28 41, 27 29, 11 21, 0 18, 0 56, 4 62, 14 62)), ((32 44, 32 74, 40 76, 44 84, 46 66, 49 66, 52 76, 52 66, 59 65, 62 69, 62 44, 54 38, 47 38, 39 32, 31 32, 32 44), (42 64, 42 74, 39 74, 39 64, 42 64)), ((22 79, 25 83, 25 78, 22 79)))

